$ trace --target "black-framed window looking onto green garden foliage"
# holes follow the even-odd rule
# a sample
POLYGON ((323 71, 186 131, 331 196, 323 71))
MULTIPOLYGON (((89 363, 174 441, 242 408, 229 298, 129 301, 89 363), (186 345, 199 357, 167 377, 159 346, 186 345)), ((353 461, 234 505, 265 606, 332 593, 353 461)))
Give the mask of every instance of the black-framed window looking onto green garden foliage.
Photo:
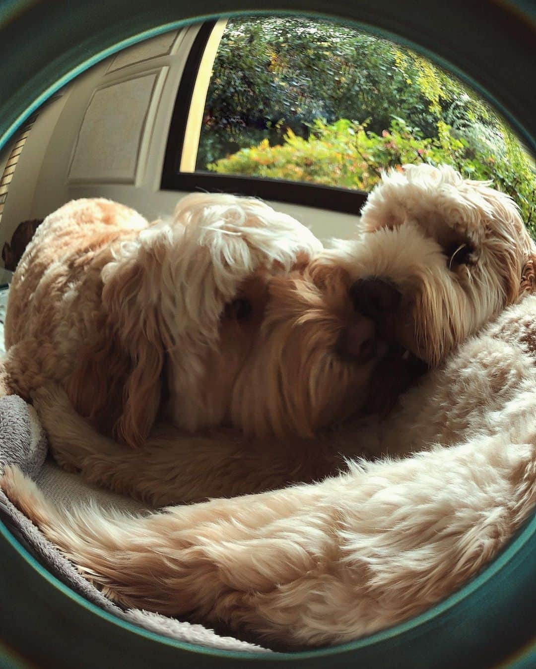
POLYGON ((531 159, 452 76, 347 25, 241 17, 205 23, 197 35, 163 187, 355 213, 382 169, 416 162, 494 179, 531 223, 531 159))

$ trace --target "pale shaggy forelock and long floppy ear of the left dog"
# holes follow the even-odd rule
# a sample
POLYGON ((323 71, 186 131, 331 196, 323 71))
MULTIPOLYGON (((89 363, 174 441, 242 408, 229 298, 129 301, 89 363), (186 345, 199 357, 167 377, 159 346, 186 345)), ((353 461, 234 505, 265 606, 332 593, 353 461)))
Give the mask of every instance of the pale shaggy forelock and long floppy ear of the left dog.
MULTIPOLYGON (((257 268, 279 264, 288 270, 319 248, 306 227, 268 205, 209 193, 188 195, 173 220, 157 221, 115 247, 101 274, 102 306, 112 336, 102 341, 100 371, 95 356, 90 369, 96 385, 104 383, 104 395, 117 396, 122 387, 116 439, 132 446, 143 443, 161 405, 165 368, 171 419, 197 429, 199 415, 206 413, 203 359, 217 347, 225 305, 257 268), (126 361, 126 371, 119 370, 121 381, 110 379, 106 355, 126 361), (196 389, 201 398, 197 416, 189 408, 196 389)), ((118 363, 110 360, 109 369, 112 364, 118 363)))

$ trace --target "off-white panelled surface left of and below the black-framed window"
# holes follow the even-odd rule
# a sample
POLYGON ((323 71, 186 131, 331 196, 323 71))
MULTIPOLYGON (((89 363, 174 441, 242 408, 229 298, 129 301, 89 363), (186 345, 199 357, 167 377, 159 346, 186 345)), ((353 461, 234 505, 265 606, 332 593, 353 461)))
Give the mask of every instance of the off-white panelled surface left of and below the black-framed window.
MULTIPOLYGON (((192 26, 130 47, 79 76, 61 98, 43 109, 9 187, 0 246, 20 221, 45 217, 76 197, 108 197, 134 207, 149 219, 173 211, 181 193, 161 191, 160 181, 175 96, 196 33, 197 27, 192 26), (138 77, 143 77, 139 95, 117 102, 114 91, 130 90, 128 84, 119 87, 138 77), (154 86, 147 97, 145 84, 149 81, 154 86), (114 86, 118 88, 109 88, 114 86), (115 106, 102 124, 94 122, 94 110, 107 104, 115 106), (116 149, 114 140, 120 141, 116 149), (90 159, 87 155, 80 159, 82 145, 92 153, 90 159), (135 169, 132 147, 137 153, 135 169)), ((354 216, 287 203, 272 205, 311 227, 321 238, 353 233, 354 216)))

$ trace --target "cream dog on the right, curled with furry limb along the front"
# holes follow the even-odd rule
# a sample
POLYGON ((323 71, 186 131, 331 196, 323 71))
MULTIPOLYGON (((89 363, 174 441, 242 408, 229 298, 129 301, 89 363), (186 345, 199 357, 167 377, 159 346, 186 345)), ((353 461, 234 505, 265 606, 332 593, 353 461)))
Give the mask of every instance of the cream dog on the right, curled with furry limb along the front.
MULTIPOLYGON (((376 455, 424 452, 143 517, 56 509, 7 470, 11 499, 112 599, 285 646, 334 644, 451 593, 533 508, 536 298, 526 294, 535 248, 517 209, 487 185, 422 167, 387 175, 363 218, 360 240, 321 258, 319 290, 343 266, 353 300, 385 337, 442 367, 381 429, 351 427, 334 444, 347 450, 359 438, 376 455)), ((68 440, 58 427, 72 414, 62 391, 36 400, 49 432, 68 440)), ((70 424, 79 440, 85 434, 86 456, 102 447, 84 421, 70 424)))

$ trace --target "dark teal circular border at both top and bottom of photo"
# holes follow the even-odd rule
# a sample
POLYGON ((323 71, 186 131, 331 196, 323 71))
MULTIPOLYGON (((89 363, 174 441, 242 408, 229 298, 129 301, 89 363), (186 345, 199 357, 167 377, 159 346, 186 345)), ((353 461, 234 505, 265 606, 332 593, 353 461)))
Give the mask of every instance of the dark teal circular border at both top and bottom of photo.
MULTIPOLYGON (((260 0, 258 3, 261 4, 260 0)), ((266 4, 261 5, 263 9, 257 9, 257 6, 255 0, 230 0, 226 4, 226 15, 306 11, 322 17, 346 19, 358 27, 371 29, 383 37, 412 47, 456 74, 487 98, 511 122, 527 147, 535 151, 536 114, 531 76, 536 68, 535 40, 531 32, 533 25, 528 15, 530 3, 486 3, 483 0, 451 0, 444 3, 431 0, 406 3, 396 0, 332 0, 328 5, 329 11, 320 0, 280 0, 270 9, 266 4), (440 33, 436 30, 439 25, 440 33), (468 31, 470 26, 472 29, 468 31), (473 52, 464 48, 467 43, 464 35, 468 32, 474 37, 473 52), (444 39, 437 37, 438 34, 444 35, 444 39)), ((193 18, 187 16, 189 7, 178 0, 153 0, 149 3, 147 0, 107 0, 106 3, 88 0, 41 3, 11 0, 2 3, 0 35, 5 56, 3 78, 0 80, 0 148, 37 106, 74 76, 103 58, 165 30, 193 23, 199 18, 221 15, 217 0, 199 0, 195 8, 197 16, 193 18)), ((426 664, 426 658, 434 662, 434 654, 432 650, 423 649, 423 644, 430 644, 434 634, 444 640, 446 627, 450 630, 456 625, 474 626, 476 636, 486 630, 495 630, 495 636, 486 639, 484 634, 480 639, 484 649, 486 643, 497 645, 496 636, 500 637, 497 616, 509 615, 515 618, 520 615, 521 625, 527 622, 523 620, 523 615, 530 615, 532 620, 536 615, 536 516, 476 579, 415 619, 350 644, 270 656, 214 651, 183 644, 123 622, 92 605, 43 569, 3 524, 0 524, 0 539, 2 551, 5 549, 6 554, 16 555, 29 567, 29 573, 35 573, 43 584, 47 583, 56 593, 61 593, 64 599, 76 603, 77 607, 82 607, 98 619, 111 623, 114 628, 121 628, 146 640, 151 648, 154 646, 155 653, 160 646, 167 646, 177 650, 177 653, 182 652, 183 659, 184 654, 187 654, 192 666, 195 656, 199 659, 204 657, 205 660, 213 658, 214 661, 217 658, 220 662, 234 660, 234 666, 253 662, 280 664, 290 660, 302 666, 325 666, 326 662, 329 662, 329 666, 371 666, 367 664, 367 658, 373 658, 376 667, 396 665, 417 669, 418 666, 440 666, 437 664, 437 656, 435 664, 426 664), (493 607, 498 607, 495 615, 493 607), (485 628, 483 631, 482 624, 485 628), (395 656, 393 649, 397 653, 395 656), (386 652, 389 652, 388 656, 386 652)), ((459 640, 460 637, 454 634, 451 646, 457 645, 459 640)), ((527 648, 529 654, 523 658, 512 658, 511 666, 531 666, 533 650, 527 648)), ((452 653, 452 648, 444 646, 446 655, 449 650, 452 653)), ((514 651, 515 648, 510 648, 508 654, 514 651)), ((499 662, 501 651, 497 650, 497 653, 499 662)), ((195 664, 198 664, 197 661, 195 664)), ((206 661, 203 664, 209 666, 206 661)), ((472 662, 472 666, 476 664, 472 662)))

